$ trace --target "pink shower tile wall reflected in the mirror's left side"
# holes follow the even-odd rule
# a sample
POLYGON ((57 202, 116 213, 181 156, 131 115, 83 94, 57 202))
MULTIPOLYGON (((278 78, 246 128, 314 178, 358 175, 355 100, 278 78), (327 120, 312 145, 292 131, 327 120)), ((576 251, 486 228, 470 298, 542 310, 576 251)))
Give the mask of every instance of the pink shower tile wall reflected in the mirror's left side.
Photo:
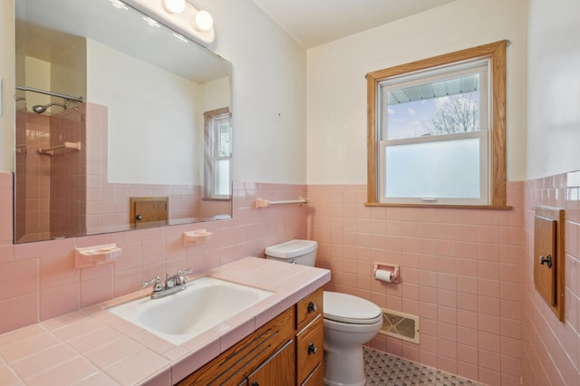
POLYGON ((42 148, 63 142, 84 144, 82 113, 59 111, 52 116, 19 110, 16 114, 16 238, 21 242, 84 232, 85 160, 82 151, 42 148), (69 216, 62 216, 63 213, 69 216))

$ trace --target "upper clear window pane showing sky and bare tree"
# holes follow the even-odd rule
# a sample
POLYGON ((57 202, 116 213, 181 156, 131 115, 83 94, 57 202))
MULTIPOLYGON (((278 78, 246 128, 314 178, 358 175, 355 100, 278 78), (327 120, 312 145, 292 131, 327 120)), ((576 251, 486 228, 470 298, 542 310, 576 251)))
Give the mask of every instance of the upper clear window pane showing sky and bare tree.
POLYGON ((387 91, 387 140, 479 130, 479 74, 387 91))

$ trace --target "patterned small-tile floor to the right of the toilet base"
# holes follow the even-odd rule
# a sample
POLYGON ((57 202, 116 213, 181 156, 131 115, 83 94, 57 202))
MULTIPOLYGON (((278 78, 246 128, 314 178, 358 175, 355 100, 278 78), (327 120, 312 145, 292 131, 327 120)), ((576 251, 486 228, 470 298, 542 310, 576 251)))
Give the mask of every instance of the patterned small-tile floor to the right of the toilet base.
POLYGON ((367 347, 364 348, 364 371, 366 386, 479 385, 367 347))

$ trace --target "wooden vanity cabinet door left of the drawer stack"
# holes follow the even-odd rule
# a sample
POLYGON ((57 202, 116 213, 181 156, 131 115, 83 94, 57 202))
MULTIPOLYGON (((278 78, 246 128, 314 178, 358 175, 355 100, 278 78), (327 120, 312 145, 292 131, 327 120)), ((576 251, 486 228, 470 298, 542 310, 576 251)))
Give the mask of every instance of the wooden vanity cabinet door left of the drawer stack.
POLYGON ((295 344, 290 341, 247 378, 248 386, 294 386, 295 344))

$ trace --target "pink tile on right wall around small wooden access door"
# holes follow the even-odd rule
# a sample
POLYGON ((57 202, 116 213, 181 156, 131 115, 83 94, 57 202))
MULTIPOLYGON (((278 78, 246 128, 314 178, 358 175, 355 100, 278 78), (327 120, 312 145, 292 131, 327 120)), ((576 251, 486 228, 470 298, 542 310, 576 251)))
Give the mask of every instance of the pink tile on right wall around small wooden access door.
POLYGON ((522 375, 524 384, 580 384, 580 171, 529 180, 525 190, 522 375), (565 209, 565 322, 534 288, 534 211, 565 209))

